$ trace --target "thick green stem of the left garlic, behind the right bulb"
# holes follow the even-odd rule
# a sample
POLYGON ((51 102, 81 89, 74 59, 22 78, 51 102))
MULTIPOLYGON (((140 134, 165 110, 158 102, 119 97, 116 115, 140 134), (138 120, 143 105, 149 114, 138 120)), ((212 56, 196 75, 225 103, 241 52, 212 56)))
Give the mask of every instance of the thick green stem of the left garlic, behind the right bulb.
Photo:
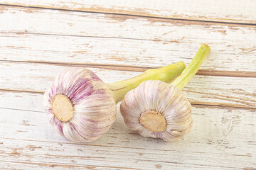
POLYGON ((128 91, 136 88, 143 81, 146 80, 161 80, 166 83, 170 83, 173 81, 178 75, 183 72, 186 64, 184 62, 177 62, 175 64, 170 64, 166 67, 161 67, 159 69, 148 69, 143 74, 140 74, 137 77, 133 77, 131 79, 126 79, 123 81, 118 81, 113 84, 107 84, 112 91, 114 101, 118 103, 124 99, 125 94, 128 91))

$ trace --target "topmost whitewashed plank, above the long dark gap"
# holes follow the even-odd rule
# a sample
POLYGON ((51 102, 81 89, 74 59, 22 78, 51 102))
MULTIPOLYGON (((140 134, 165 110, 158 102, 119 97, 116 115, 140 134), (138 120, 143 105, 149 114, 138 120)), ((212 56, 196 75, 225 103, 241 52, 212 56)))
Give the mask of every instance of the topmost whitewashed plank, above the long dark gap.
POLYGON ((255 23, 256 1, 167 1, 167 0, 130 0, 130 1, 89 1, 89 0, 3 0, 1 4, 36 6, 100 13, 122 13, 137 16, 178 18, 200 21, 255 23))

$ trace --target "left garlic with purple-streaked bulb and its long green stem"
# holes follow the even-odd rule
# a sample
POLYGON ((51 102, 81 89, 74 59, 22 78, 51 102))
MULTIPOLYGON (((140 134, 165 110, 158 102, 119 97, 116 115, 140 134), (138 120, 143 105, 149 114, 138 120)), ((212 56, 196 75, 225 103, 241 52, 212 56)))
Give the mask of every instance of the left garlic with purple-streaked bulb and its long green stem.
POLYGON ((185 67, 178 62, 114 84, 105 84, 89 69, 65 69, 44 94, 48 120, 68 140, 93 142, 110 129, 116 118, 116 103, 127 91, 148 79, 170 82, 185 67))

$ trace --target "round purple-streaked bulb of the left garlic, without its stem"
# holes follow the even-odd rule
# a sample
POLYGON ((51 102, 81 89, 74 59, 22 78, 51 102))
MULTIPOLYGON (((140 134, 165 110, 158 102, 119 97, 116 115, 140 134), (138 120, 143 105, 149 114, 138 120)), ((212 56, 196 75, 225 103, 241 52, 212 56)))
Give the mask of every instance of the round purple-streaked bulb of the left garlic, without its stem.
MULTIPOLYGON (((95 73, 84 68, 65 69, 60 72, 53 86, 44 94, 44 106, 50 124, 60 135, 73 142, 97 140, 110 129, 117 113, 116 103, 107 84, 95 73), (71 118, 61 115, 65 112, 55 115, 53 111, 55 98, 65 98, 63 96, 72 103, 71 118)), ((61 110, 61 107, 58 109, 61 110)), ((55 112, 58 109, 55 108, 55 112)))

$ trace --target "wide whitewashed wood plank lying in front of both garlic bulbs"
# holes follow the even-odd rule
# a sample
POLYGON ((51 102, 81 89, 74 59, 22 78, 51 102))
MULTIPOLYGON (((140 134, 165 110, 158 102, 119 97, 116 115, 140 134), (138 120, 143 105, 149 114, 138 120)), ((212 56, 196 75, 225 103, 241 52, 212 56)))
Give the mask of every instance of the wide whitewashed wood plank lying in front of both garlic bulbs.
MULTIPOLYGON (((26 102, 29 101, 23 98, 22 103, 26 102)), ((0 155, 8 157, 9 162, 122 165, 134 169, 154 169, 156 164, 162 169, 255 167, 256 121, 252 111, 193 108, 193 130, 171 143, 128 130, 118 112, 112 128, 100 140, 85 145, 58 135, 43 112, 0 109, 0 113, 0 155)))

